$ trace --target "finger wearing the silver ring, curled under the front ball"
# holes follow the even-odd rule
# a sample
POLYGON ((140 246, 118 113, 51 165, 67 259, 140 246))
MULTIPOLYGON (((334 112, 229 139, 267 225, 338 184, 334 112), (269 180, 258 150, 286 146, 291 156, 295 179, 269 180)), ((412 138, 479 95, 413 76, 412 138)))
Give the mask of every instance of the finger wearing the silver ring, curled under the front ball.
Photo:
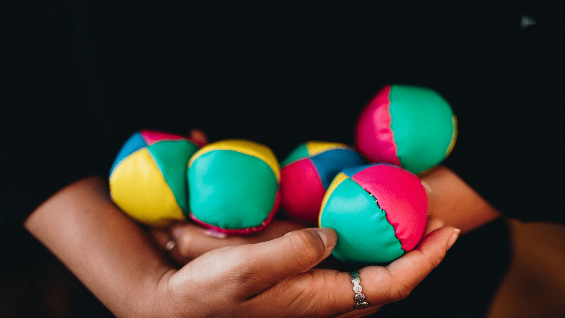
MULTIPOLYGON (((381 306, 405 298, 412 289, 444 258, 459 235, 454 227, 442 227, 427 235, 415 250, 407 252, 387 267, 359 269, 360 286, 370 306, 381 306)), ((310 316, 322 312, 337 316, 353 311, 355 304, 351 276, 347 272, 312 269, 277 283, 249 300, 255 306, 273 296, 293 299, 292 305, 272 302, 280 316, 310 316)))

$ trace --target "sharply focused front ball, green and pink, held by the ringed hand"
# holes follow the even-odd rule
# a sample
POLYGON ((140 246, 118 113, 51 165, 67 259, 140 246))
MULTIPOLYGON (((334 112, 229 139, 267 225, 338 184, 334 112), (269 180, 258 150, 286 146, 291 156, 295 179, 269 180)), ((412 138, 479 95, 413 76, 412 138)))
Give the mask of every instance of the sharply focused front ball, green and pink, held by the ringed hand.
POLYGON ((372 164, 336 175, 319 225, 337 231, 336 259, 388 263, 416 247, 427 218, 428 199, 418 177, 398 166, 372 164))

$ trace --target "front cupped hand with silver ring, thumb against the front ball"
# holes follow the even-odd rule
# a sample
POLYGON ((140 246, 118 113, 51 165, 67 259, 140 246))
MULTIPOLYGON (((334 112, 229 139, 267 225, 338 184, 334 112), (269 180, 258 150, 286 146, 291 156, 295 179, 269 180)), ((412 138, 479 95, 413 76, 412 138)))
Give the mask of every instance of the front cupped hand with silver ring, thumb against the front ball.
MULTIPOLYGON (((441 227, 388 266, 359 269, 366 301, 374 307, 405 298, 458 235, 454 227, 441 227)), ((312 269, 332 252, 336 240, 329 228, 302 229, 268 242, 218 248, 164 274, 159 306, 172 316, 357 315, 350 274, 312 269)))

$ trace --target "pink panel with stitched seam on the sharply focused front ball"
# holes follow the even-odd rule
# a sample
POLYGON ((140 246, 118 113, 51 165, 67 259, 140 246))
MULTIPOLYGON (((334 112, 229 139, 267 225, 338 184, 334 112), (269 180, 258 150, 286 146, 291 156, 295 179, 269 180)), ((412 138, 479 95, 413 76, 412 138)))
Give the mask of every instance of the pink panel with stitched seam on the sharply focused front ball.
POLYGON ((389 165, 375 165, 351 177, 375 196, 386 220, 394 228, 402 249, 410 251, 422 238, 428 219, 428 197, 420 179, 408 171, 389 165))

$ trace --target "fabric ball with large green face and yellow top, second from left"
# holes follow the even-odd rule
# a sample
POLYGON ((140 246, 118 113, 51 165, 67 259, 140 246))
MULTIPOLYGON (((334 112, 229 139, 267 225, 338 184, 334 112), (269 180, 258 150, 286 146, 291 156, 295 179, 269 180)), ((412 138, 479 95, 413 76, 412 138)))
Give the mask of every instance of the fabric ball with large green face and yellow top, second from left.
POLYGON ((229 139, 190 158, 190 218, 225 234, 262 230, 279 208, 279 164, 265 145, 229 139))

